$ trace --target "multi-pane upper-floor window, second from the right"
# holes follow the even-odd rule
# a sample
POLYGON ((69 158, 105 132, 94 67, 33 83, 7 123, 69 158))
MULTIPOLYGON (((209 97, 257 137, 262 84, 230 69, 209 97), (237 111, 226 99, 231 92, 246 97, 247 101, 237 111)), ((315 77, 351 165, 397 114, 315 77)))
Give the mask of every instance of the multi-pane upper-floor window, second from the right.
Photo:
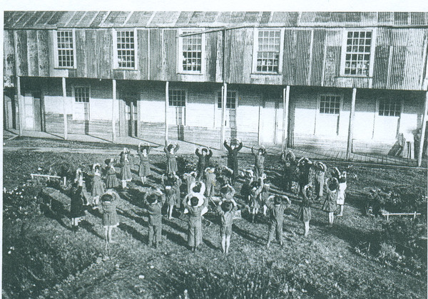
POLYGON ((256 73, 280 73, 281 31, 280 29, 259 29, 255 38, 256 73))

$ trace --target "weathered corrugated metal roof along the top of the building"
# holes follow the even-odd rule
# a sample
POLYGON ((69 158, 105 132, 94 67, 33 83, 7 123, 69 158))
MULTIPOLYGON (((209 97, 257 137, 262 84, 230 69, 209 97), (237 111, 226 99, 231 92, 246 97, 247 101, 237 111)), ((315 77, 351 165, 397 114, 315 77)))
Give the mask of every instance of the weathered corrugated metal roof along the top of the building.
POLYGON ((5 11, 4 28, 428 26, 427 12, 5 11))

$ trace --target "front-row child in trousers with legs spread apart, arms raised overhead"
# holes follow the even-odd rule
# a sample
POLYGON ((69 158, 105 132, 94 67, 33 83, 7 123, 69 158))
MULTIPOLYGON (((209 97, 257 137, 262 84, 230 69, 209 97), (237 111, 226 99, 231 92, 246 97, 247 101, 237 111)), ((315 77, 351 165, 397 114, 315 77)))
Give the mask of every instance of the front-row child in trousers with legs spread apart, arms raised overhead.
POLYGON ((267 248, 269 248, 270 242, 273 241, 275 235, 280 246, 283 245, 282 223, 284 222, 284 211, 290 204, 291 201, 287 196, 275 195, 270 196, 267 200, 266 206, 269 209, 269 238, 267 239, 267 248))

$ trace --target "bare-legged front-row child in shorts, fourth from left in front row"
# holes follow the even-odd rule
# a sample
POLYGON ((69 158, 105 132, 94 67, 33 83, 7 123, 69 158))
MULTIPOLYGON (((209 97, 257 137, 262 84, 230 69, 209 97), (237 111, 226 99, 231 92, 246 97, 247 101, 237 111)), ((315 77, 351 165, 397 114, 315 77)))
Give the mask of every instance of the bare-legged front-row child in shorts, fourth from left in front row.
POLYGON ((230 236, 232 236, 233 225, 233 210, 236 209, 237 204, 234 199, 220 201, 217 206, 218 214, 220 214, 220 236, 221 248, 224 254, 229 253, 230 236))

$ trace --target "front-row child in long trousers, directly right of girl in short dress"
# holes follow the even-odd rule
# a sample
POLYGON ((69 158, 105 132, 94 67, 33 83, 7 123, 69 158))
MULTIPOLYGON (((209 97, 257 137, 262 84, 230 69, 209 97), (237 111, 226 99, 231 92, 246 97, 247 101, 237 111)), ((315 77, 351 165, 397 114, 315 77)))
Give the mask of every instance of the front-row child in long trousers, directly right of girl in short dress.
POLYGON ((162 234, 162 206, 165 203, 165 195, 161 190, 144 194, 144 203, 148 211, 148 246, 158 248, 162 234))

